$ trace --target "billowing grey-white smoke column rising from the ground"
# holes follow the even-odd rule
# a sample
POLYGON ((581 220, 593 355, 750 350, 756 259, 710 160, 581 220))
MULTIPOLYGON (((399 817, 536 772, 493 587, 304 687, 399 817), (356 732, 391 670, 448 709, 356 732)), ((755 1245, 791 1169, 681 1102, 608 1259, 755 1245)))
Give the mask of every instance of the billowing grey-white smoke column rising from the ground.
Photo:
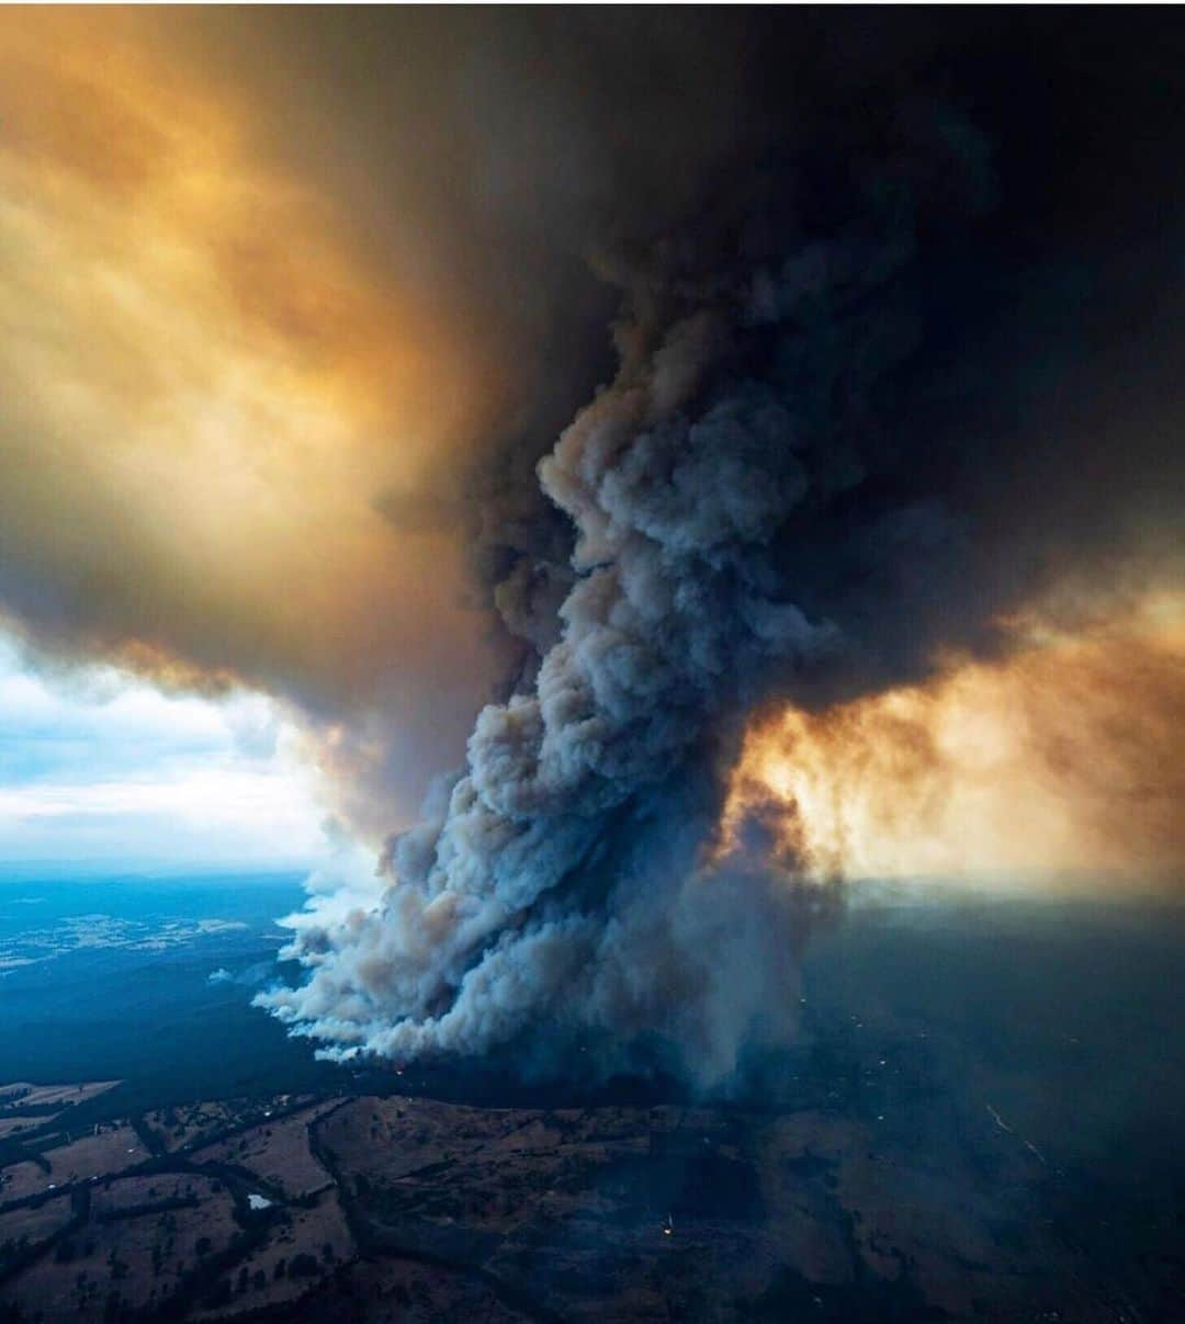
POLYGON ((794 895, 698 873, 704 820, 674 786, 747 679, 837 645, 768 557, 808 490, 796 420, 759 385, 690 408, 726 342, 677 322, 540 463, 577 531, 559 642, 532 692, 482 711, 380 903, 314 903, 290 949, 311 978, 260 1000, 328 1055, 479 1051, 542 1017, 655 1031, 714 1079, 784 1033, 794 895))

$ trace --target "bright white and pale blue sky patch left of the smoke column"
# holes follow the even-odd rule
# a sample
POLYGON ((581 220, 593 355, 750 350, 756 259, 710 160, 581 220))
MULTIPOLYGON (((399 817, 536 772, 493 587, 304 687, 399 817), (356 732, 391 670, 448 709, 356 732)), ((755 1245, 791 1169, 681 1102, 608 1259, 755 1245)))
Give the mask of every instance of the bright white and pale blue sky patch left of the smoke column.
POLYGON ((111 669, 46 675, 0 634, 7 867, 301 867, 326 818, 266 698, 166 695, 111 669))

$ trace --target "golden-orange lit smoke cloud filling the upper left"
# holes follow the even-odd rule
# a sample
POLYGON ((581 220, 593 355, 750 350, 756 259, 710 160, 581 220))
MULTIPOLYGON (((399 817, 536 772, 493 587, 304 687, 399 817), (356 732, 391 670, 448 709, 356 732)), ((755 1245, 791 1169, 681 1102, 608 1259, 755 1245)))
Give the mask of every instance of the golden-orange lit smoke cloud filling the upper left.
POLYGON ((376 265, 262 146, 278 107, 184 37, 0 16, 0 614, 50 655, 290 699, 385 830, 494 666, 455 530, 381 498, 438 504, 489 392, 449 291, 376 265))

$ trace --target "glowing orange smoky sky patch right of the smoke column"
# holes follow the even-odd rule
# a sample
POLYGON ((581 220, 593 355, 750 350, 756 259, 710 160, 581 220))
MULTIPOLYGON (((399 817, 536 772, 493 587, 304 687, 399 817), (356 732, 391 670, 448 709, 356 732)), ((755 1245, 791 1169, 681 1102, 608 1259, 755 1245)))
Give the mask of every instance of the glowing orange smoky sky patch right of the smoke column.
POLYGON ((816 876, 1172 876, 1185 862, 1185 604, 747 733, 718 851, 816 876))

